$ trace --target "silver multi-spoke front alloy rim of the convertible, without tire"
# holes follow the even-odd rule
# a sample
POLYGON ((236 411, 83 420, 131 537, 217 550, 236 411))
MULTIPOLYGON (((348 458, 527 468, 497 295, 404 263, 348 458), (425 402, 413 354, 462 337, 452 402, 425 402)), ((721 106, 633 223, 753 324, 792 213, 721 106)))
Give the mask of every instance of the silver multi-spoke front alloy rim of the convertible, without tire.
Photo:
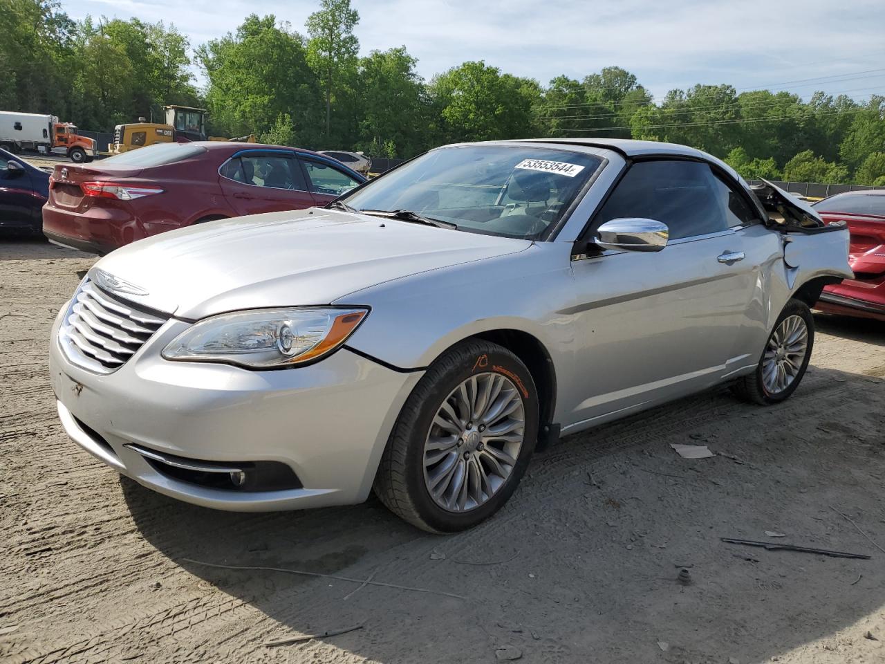
POLYGON ((467 512, 485 504, 513 472, 525 439, 516 385, 473 374, 437 409, 424 444, 424 482, 436 505, 467 512))

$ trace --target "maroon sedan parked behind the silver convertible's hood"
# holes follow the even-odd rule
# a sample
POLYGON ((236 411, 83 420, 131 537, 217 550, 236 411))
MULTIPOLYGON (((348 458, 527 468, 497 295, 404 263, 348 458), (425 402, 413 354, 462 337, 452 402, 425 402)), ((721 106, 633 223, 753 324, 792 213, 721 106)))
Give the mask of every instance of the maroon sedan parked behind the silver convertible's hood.
POLYGON ((326 205, 364 181, 335 159, 306 150, 159 143, 91 164, 56 166, 43 234, 105 254, 204 221, 326 205))

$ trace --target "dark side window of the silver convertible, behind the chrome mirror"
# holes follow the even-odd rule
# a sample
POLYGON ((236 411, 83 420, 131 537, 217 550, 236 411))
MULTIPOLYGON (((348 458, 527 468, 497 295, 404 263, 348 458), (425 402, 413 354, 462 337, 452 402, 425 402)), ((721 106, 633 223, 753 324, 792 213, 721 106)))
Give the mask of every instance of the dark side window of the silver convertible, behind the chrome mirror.
POLYGON ((593 225, 625 217, 653 219, 670 228, 671 240, 727 230, 737 224, 727 216, 720 188, 729 191, 706 164, 642 161, 630 166, 593 225))

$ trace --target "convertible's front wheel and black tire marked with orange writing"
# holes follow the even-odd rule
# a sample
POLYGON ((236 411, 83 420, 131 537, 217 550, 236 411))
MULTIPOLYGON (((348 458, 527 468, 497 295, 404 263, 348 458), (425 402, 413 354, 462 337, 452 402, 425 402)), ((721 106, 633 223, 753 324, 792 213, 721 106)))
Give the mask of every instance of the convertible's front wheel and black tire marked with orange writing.
POLYGON ((450 533, 473 528, 504 506, 516 490, 535 449, 538 413, 535 382, 516 355, 503 346, 479 340, 458 344, 435 360, 406 399, 375 475, 375 494, 391 512, 419 529, 450 533), (451 433, 452 421, 461 420, 461 414, 470 419, 458 405, 465 402, 455 396, 456 390, 461 393, 463 384, 476 396, 473 400, 481 417, 467 422, 472 426, 466 433, 466 426, 458 425, 463 433, 458 437, 451 433), (489 393, 496 396, 488 399, 489 393), (491 407, 482 407, 484 401, 489 401, 491 407), (440 415, 444 404, 449 405, 446 413, 451 415, 440 415), (499 414, 505 411, 510 414, 499 414), (520 414, 522 440, 517 447, 520 414), (444 420, 444 429, 436 423, 440 419, 444 420), (517 429, 510 430, 514 426, 517 429), (499 429, 496 433, 502 437, 489 435, 491 429, 499 429), (426 444, 438 444, 443 436, 458 442, 447 441, 449 447, 445 450, 426 449, 426 444), (504 441, 504 436, 510 439, 504 441), (502 455, 515 462, 496 464, 502 455), (441 460, 426 467, 426 459, 437 457, 441 460), (454 467, 450 479, 443 477, 435 487, 438 493, 433 495, 429 485, 445 475, 445 468, 450 466, 454 467), (502 470, 505 477, 499 475, 502 470), (459 476, 466 490, 457 490, 459 476), (451 494, 451 503, 443 506, 441 501, 447 493, 451 494), (459 497, 465 495, 465 503, 458 505, 459 497))

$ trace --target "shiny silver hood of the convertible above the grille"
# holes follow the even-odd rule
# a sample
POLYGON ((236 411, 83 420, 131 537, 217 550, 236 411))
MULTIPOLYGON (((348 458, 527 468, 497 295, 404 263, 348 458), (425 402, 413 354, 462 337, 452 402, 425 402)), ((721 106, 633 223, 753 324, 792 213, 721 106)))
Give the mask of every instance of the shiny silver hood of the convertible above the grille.
POLYGON ((90 274, 120 297, 199 319, 265 306, 326 305, 381 282, 530 245, 313 208, 156 235, 113 251, 90 274))

